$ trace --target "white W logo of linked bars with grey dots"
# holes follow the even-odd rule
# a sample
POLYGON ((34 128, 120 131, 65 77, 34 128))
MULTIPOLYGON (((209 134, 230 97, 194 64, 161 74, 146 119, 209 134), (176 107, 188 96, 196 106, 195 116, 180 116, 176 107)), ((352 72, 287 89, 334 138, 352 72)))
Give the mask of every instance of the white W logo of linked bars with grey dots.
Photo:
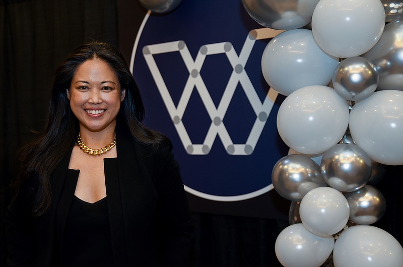
POLYGON ((188 154, 209 154, 217 135, 219 136, 228 154, 250 155, 253 153, 278 93, 270 89, 262 103, 248 77, 248 74, 245 71, 245 65, 248 61, 249 55, 253 49, 256 40, 273 38, 280 32, 281 31, 268 28, 255 29, 250 31, 243 44, 239 56, 236 53, 231 42, 220 42, 203 45, 199 48, 194 61, 184 41, 173 41, 144 46, 144 58, 146 59, 147 65, 169 112, 171 120, 175 125, 176 131, 180 137, 183 147, 188 154), (164 82, 164 77, 161 75, 158 64, 154 60, 154 55, 156 54, 171 52, 178 52, 180 54, 188 71, 188 78, 177 106, 175 106, 167 85, 164 82), (230 65, 232 66, 231 76, 227 82, 218 107, 216 107, 216 105, 214 104, 210 96, 209 89, 207 88, 206 84, 203 81, 203 78, 200 75, 205 59, 209 55, 214 54, 225 54, 230 65), (226 111, 232 100, 238 83, 241 85, 245 95, 247 96, 249 105, 251 105, 256 115, 254 118, 252 129, 245 144, 234 144, 224 124, 226 111), (182 121, 183 114, 185 112, 185 109, 188 107, 189 98, 193 90, 197 90, 197 93, 203 101, 203 104, 211 119, 211 124, 207 131, 207 136, 203 144, 193 144, 191 142, 186 130, 186 126, 182 121))

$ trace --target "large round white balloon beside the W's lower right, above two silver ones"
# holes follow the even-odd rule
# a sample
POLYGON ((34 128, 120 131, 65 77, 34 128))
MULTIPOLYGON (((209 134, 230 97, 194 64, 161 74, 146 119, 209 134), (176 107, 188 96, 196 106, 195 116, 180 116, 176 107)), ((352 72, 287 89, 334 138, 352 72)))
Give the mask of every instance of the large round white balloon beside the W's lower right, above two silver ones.
POLYGON ((349 123, 347 102, 327 86, 306 86, 291 93, 280 106, 277 128, 290 148, 320 154, 337 144, 349 123))

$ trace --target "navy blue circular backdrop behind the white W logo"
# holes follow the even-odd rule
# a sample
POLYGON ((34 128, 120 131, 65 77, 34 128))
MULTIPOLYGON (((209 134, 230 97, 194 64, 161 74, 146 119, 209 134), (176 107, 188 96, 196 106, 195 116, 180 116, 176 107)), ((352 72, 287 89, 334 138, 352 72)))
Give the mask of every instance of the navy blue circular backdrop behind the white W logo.
MULTIPOLYGON (((179 103, 184 107, 182 117, 177 119, 183 123, 191 144, 206 143, 209 128, 212 124, 216 125, 213 121, 220 112, 222 116, 216 118, 217 124, 221 119, 232 144, 246 144, 259 113, 255 113, 245 93, 245 85, 236 79, 231 80, 231 75, 243 71, 247 74, 243 76, 243 81, 250 80, 260 105, 267 98, 269 86, 261 74, 260 62, 263 50, 270 39, 258 39, 251 44, 251 38, 248 37, 251 30, 260 28, 262 26, 246 13, 241 1, 184 0, 169 14, 151 14, 146 17, 144 28, 139 32, 140 38, 137 47, 135 46, 137 49, 132 55, 135 56, 133 75, 140 87, 146 107, 144 122, 170 138, 174 145, 173 153, 180 164, 184 184, 200 192, 202 197, 204 194, 207 198, 244 195, 272 183, 273 166, 288 152, 288 147, 278 135, 276 125, 277 111, 284 96, 278 95, 273 108, 266 110, 267 121, 261 131, 254 133, 257 143, 251 154, 230 154, 228 151, 231 150, 224 145, 226 141, 228 143, 228 138, 223 141, 216 134, 212 145, 203 150, 204 154, 196 155, 189 154, 191 150, 188 150, 188 144, 182 143, 175 127, 177 125, 175 122, 178 121, 171 118, 169 107, 164 103, 157 85, 166 87, 175 108, 178 108, 179 103), (220 46, 220 43, 223 46, 220 46), (246 62, 245 64, 237 67, 231 65, 229 56, 223 52, 223 49, 228 51, 231 44, 237 57, 241 55, 244 46, 245 50, 252 47, 250 52, 245 52, 244 57, 239 59, 246 62), (169 50, 170 47, 173 47, 173 50, 169 50), (175 50, 175 47, 180 49, 175 50), (217 52, 214 52, 214 49, 217 52), (188 51, 191 60, 179 50, 188 51), (147 56, 149 59, 152 57, 153 62, 151 59, 147 61, 147 56), (160 75, 163 82, 156 81, 153 72, 160 75), (201 82, 207 88, 207 97, 212 100, 216 109, 221 102, 228 102, 220 106, 220 112, 212 112, 214 109, 206 107, 197 86, 193 83, 195 77, 199 79, 198 87, 201 82), (245 80, 245 77, 248 79, 245 80), (230 80, 236 83, 232 82, 229 85, 230 80), (192 88, 191 91, 187 91, 191 93, 182 96, 186 86, 192 88), (231 97, 224 99, 223 94, 234 88, 231 97), (186 98, 186 101, 181 102, 181 97, 186 98)), ((249 90, 250 88, 249 86, 249 90)))

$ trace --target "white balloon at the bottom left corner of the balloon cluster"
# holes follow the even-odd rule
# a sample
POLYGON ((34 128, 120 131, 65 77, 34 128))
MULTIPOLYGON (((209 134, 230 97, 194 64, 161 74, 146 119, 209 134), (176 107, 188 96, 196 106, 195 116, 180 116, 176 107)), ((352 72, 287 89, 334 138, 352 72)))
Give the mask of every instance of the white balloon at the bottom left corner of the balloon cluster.
POLYGON ((276 256, 286 267, 319 267, 333 250, 332 236, 320 237, 309 232, 301 223, 285 228, 277 237, 276 256))

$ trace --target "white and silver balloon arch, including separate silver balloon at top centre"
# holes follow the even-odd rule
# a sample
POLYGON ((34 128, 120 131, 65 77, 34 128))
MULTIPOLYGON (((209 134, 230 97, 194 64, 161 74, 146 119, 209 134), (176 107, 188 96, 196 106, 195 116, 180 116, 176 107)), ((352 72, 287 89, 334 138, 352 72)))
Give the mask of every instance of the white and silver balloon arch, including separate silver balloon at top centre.
MULTIPOLYGON (((181 0, 139 2, 165 13, 181 0)), ((292 201, 279 261, 401 266, 402 246, 371 224, 386 210, 376 173, 403 165, 403 3, 242 3, 260 25, 284 30, 261 59, 267 84, 286 96, 277 127, 290 151, 272 172, 275 190, 292 201)))

